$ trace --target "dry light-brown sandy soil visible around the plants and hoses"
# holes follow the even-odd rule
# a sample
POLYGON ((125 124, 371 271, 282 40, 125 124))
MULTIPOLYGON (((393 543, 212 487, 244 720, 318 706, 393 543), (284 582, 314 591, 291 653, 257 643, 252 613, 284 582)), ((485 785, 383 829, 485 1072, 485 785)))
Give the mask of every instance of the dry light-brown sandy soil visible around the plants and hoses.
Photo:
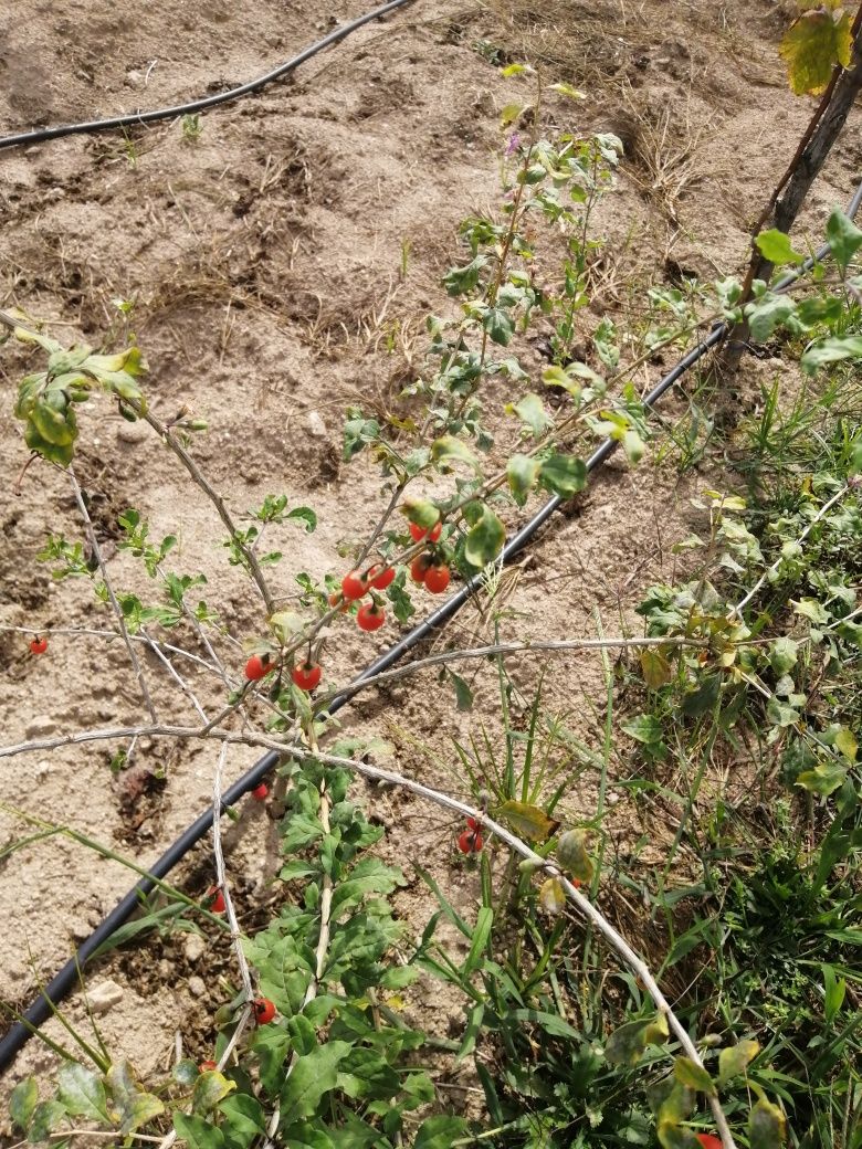
MULTIPOLYGON (((14 17, 0 21, 0 124, 13 131, 113 115, 245 82, 318 38, 331 18, 362 9, 359 0, 331 14, 298 2, 285 20, 275 0, 245 11, 213 0, 124 0, 109 13, 93 0, 22 0, 14 17)), ((517 80, 503 78, 477 45, 548 61, 587 93, 574 111, 552 101, 556 125, 616 131, 626 144, 617 187, 597 214, 607 278, 584 316, 587 333, 600 311, 621 325, 637 321, 647 282, 744 265, 747 230, 811 109, 790 95, 777 61, 788 11, 790 5, 770 0, 680 2, 672 15, 655 0, 551 2, 534 10, 422 0, 316 57, 294 79, 206 115, 197 141, 184 140, 178 123, 164 123, 125 140, 78 136, 2 152, 0 306, 25 308, 69 341, 120 345, 125 332, 111 300, 133 301, 129 326, 152 367, 152 406, 162 418, 187 407, 209 421, 194 455, 234 512, 268 492, 317 511, 313 534, 297 524, 272 531, 272 546, 287 556, 272 585, 286 600, 295 594, 297 571, 320 578, 341 569, 339 548, 376 517, 376 471, 364 460, 341 463, 344 408, 392 403, 421 368, 424 316, 452 308, 439 280, 457 255, 457 223, 494 202, 499 111, 516 98, 517 80)), ((856 117, 810 198, 801 234, 818 236, 826 210, 847 200, 861 161, 856 117)), ((54 583, 36 557, 48 532, 79 537, 66 478, 36 466, 22 495, 11 493, 26 458, 11 408, 28 362, 20 348, 0 350, 0 623, 40 633, 105 629, 109 615, 92 601, 90 586, 54 583)), ((538 377, 539 352, 528 348, 525 362, 538 377)), ((662 365, 659 358, 645 368, 637 384, 654 380, 662 365)), ((495 398, 502 406, 505 396, 495 398)), ((679 410, 680 401, 671 401, 668 411, 679 410)), ((178 537, 175 569, 206 574, 202 593, 226 626, 221 649, 239 676, 240 643, 260 633, 260 604, 225 562, 213 508, 176 460, 146 427, 97 401, 82 416, 76 469, 116 584, 143 585, 115 547, 116 515, 133 506, 154 537, 178 537)), ((608 633, 637 626, 632 610, 644 587, 674 574, 671 545, 696 523, 690 499, 705 479, 723 481, 696 472, 678 480, 648 462, 634 473, 613 463, 532 548, 508 601, 503 637, 594 634, 599 620, 608 633)), ((468 608, 446 641, 472 641, 482 625, 468 608)), ((388 627, 370 641, 343 629, 326 651, 328 678, 346 680, 393 634, 388 627)), ((191 718, 162 669, 147 661, 146 671, 160 712, 191 718)), ((540 671, 540 660, 513 664, 528 695, 540 671)), ((49 654, 36 660, 26 654, 26 634, 6 630, 0 673, 3 743, 136 723, 143 714, 124 650, 98 635, 52 634, 49 654)), ((188 681, 205 708, 217 704, 217 684, 193 671, 188 681)), ((477 712, 493 724, 494 686, 485 671, 476 688, 477 712)), ((565 712, 580 738, 598 739, 605 692, 598 660, 555 661, 545 688, 548 707, 565 712)), ((421 688, 399 685, 357 702, 349 722, 392 738, 401 770, 463 792, 457 776, 430 765, 413 741, 451 762, 452 735, 476 728, 476 717, 456 714, 432 676, 421 688)), ((114 776, 109 756, 102 747, 68 747, 5 759, 0 801, 72 826, 146 866, 208 802, 215 754, 145 745, 138 761, 146 769, 131 778, 114 776)), ((254 757, 247 748, 232 750, 230 778, 254 757)), ((631 813, 624 797, 614 797, 610 831, 624 839, 631 813)), ((451 827, 400 794, 374 792, 368 801, 390 827, 387 854, 408 870, 416 855, 430 859, 469 905, 476 879, 452 865, 451 827)), ((567 808, 590 811, 593 801, 586 778, 567 808)), ((263 808, 247 805, 228 845, 241 920, 252 928, 275 896, 268 886, 275 831, 263 808)), ((23 832, 3 809, 0 840, 23 832)), ((0 997, 21 1007, 125 893, 131 876, 63 838, 13 853, 0 866, 0 997)), ((175 880, 198 895, 210 872, 205 843, 175 880)), ((418 885, 400 895, 399 911, 422 925, 429 903, 418 885)), ((190 1048, 205 1048, 218 1001, 211 972, 226 957, 208 934, 202 944, 177 935, 94 966, 91 987, 118 987, 100 1017, 108 1043, 130 1052, 145 1074, 170 1057, 177 1028, 190 1048)), ((444 1032, 461 1024, 460 1003, 440 1010, 439 989, 430 985, 421 984, 414 1010, 444 1032)), ((70 1012, 80 1018, 80 1003, 70 1012)), ((48 1032, 56 1036, 55 1026, 48 1032)), ((2 1087, 51 1062, 31 1042, 2 1087)))

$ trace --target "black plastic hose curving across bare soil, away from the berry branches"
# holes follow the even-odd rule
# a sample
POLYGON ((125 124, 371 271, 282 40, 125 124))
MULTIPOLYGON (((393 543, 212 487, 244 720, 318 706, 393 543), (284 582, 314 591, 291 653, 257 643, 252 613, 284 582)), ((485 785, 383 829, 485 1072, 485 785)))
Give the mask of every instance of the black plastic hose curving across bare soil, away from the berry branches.
POLYGON ((200 100, 192 100, 190 103, 178 103, 172 108, 155 108, 152 111, 132 111, 125 116, 114 116, 110 119, 91 119, 80 124, 60 124, 56 128, 39 128, 32 132, 18 132, 15 136, 5 136, 0 138, 0 148, 6 147, 23 147, 26 144, 43 144, 45 140, 60 139, 61 136, 77 136, 84 132, 103 132, 109 131, 111 128, 132 128, 134 124, 152 124, 157 119, 174 119, 176 116, 187 116, 194 111, 203 111, 207 108, 215 108, 220 103, 229 103, 232 100, 238 100, 244 95, 251 95, 253 92, 260 92, 261 88, 271 84, 274 80, 280 79, 283 76, 287 76, 290 72, 299 68, 300 64, 305 63, 306 60, 310 60, 311 56, 322 52, 324 48, 330 47, 332 44, 338 44, 346 36, 355 32, 356 29, 362 28, 363 24, 369 24, 372 20, 378 20, 380 16, 385 16, 390 11, 394 11, 397 8, 402 8, 405 5, 410 3, 411 0, 390 0, 388 3, 380 5, 379 8, 375 8, 374 11, 365 13, 364 16, 359 16, 356 20, 349 21, 347 24, 340 24, 334 31, 330 32, 329 36, 324 36, 322 40, 317 40, 316 44, 311 44, 309 47, 303 48, 298 56, 288 60, 286 63, 279 64, 278 68, 274 68, 272 71, 267 72, 265 76, 259 77, 259 79, 253 79, 248 84, 241 84, 239 87, 231 87, 226 92, 216 92, 215 95, 207 95, 200 100))

